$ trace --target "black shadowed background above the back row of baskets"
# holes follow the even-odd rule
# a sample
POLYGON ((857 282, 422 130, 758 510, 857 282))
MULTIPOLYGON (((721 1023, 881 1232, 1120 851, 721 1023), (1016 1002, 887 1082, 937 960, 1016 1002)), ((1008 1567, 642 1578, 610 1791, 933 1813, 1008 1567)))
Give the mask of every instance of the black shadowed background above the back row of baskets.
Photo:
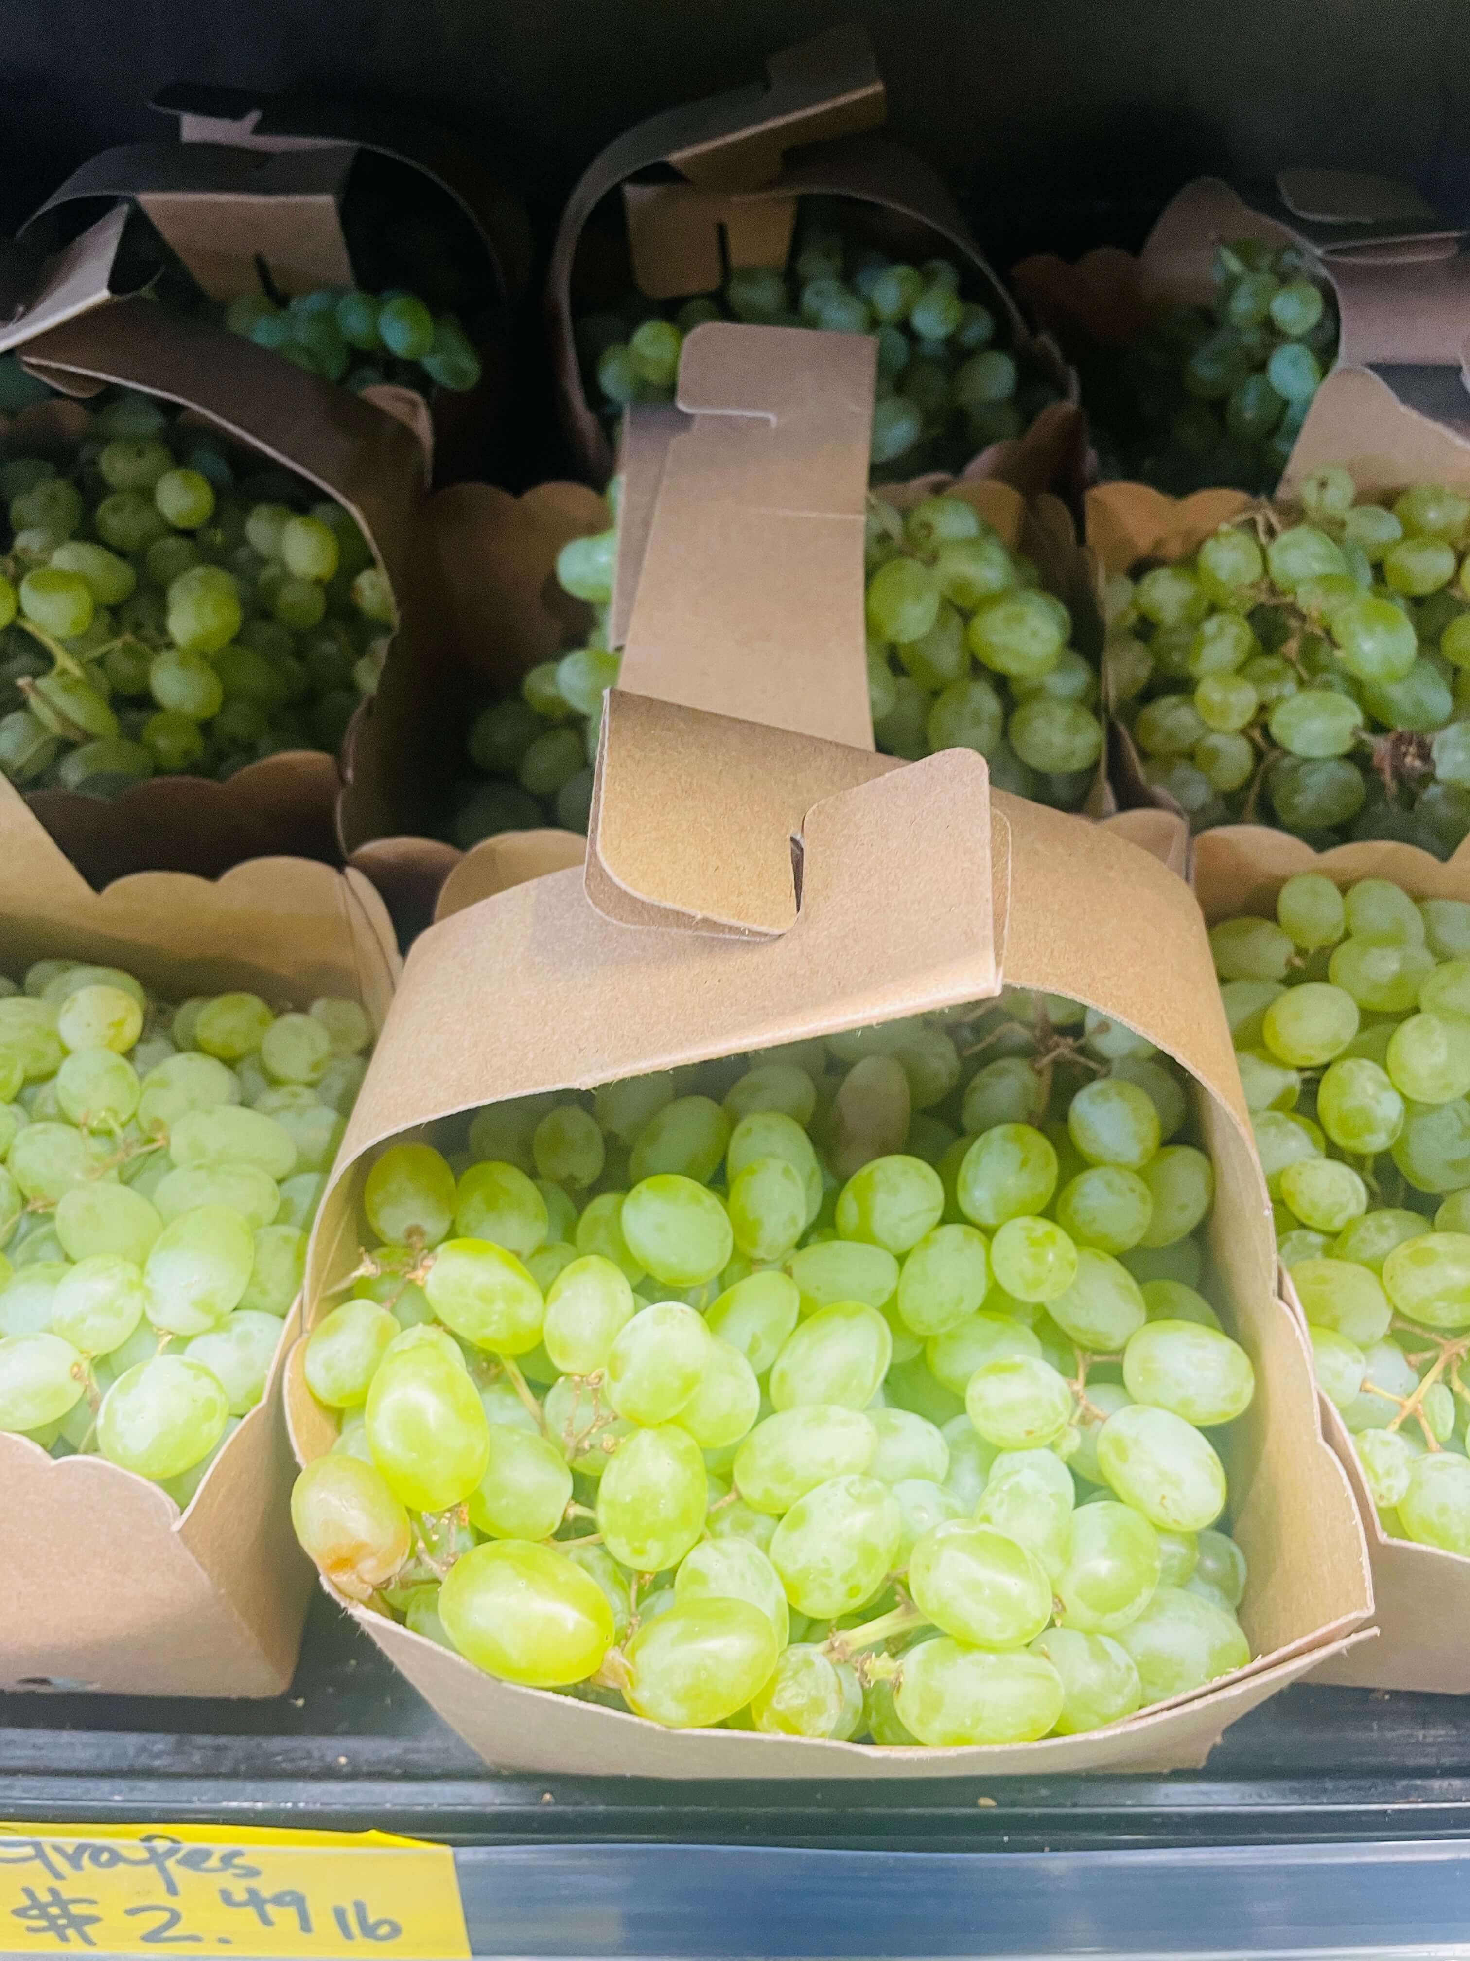
POLYGON ((192 80, 431 114, 545 239, 619 129, 843 20, 1000 265, 1135 245, 1200 171, 1372 169, 1470 212, 1462 0, 0 0, 0 222, 90 151, 167 137, 147 100, 192 80))

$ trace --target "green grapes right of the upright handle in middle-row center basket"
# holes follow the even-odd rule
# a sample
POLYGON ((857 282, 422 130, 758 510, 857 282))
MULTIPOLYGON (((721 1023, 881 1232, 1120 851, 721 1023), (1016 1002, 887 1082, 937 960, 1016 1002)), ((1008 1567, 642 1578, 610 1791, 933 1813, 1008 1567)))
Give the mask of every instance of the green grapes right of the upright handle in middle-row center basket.
POLYGON ((1102 755, 1098 671, 1037 567, 960 496, 868 516, 868 698, 878 747, 976 749, 992 782, 1078 810, 1102 755))

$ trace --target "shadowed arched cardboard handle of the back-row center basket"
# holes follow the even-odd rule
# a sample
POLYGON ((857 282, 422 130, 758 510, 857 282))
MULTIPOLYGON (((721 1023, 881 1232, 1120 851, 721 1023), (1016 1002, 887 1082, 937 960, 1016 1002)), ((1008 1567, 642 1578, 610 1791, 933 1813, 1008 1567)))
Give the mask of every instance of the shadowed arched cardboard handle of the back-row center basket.
POLYGON ((608 435, 582 386, 574 304, 710 292, 729 265, 784 265, 804 196, 862 208, 878 243, 915 259, 955 257, 1009 343, 1047 369, 1062 390, 1017 441, 992 443, 964 471, 1017 488, 1076 490, 1086 429, 1076 377, 1021 312, 966 226, 941 178, 913 151, 870 131, 886 116, 884 84, 860 27, 833 27, 766 63, 766 86, 664 110, 610 143, 572 190, 557 229, 547 278, 547 320, 566 441, 590 482, 613 471, 608 435), (682 182, 670 182, 672 167, 682 182), (613 235, 590 227, 621 188, 613 235))

